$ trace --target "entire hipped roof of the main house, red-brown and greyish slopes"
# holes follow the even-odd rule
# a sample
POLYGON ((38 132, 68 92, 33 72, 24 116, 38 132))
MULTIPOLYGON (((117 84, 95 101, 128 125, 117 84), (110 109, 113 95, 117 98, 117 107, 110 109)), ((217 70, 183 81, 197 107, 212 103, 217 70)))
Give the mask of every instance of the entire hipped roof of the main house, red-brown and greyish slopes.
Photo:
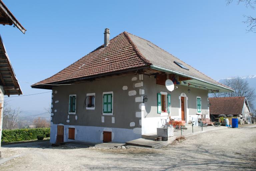
POLYGON ((58 84, 77 79, 86 79, 88 77, 97 77, 98 75, 111 74, 112 72, 127 69, 149 67, 152 64, 196 77, 214 85, 221 85, 150 41, 123 32, 111 39, 107 47, 103 45, 98 47, 64 70, 48 79, 38 82, 37 85, 32 85, 32 87, 39 87, 40 84, 58 84), (189 70, 180 68, 174 64, 174 61, 183 64, 189 70))

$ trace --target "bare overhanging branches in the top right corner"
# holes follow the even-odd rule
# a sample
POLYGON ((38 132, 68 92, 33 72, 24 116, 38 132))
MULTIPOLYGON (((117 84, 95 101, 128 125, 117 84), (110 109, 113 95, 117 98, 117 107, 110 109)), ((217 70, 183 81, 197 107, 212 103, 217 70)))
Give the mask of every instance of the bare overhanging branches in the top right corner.
MULTIPOLYGON (((233 2, 233 0, 226 0, 226 1, 227 1, 227 5, 233 2)), ((256 0, 237 0, 237 4, 240 4, 240 3, 244 3, 246 8, 248 7, 252 9, 256 8, 256 0)), ((244 17, 246 18, 246 21, 243 21, 243 23, 248 24, 247 31, 256 33, 256 18, 253 16, 247 16, 247 15, 244 15, 244 17)))

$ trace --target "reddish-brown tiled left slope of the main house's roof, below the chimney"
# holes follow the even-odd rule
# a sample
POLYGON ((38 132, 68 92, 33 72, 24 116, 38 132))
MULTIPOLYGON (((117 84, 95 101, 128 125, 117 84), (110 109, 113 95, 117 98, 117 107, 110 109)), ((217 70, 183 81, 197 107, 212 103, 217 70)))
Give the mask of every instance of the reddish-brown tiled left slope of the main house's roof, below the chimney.
POLYGON ((149 63, 135 48, 136 46, 130 41, 127 33, 123 32, 111 39, 107 47, 104 45, 98 47, 64 70, 38 84, 56 83, 148 66, 149 63))

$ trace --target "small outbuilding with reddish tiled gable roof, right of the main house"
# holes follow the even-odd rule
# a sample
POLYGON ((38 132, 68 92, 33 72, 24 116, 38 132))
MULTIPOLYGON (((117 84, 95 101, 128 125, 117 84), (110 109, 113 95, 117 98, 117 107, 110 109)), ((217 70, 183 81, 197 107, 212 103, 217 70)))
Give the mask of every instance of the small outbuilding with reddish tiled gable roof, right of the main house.
POLYGON ((246 97, 211 97, 210 104, 210 118, 212 120, 220 114, 233 115, 239 117, 243 121, 250 122, 250 106, 246 97))

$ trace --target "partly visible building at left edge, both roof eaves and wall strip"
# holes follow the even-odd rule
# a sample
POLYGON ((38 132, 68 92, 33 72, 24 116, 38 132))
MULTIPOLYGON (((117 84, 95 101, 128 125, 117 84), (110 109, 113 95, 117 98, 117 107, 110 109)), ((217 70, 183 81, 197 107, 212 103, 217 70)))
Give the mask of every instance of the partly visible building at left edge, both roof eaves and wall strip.
MULTIPOLYGON (((2 0, 0 0, 0 24, 2 25, 14 25, 25 34, 26 29, 19 23, 10 10, 5 6, 2 0)), ((0 35, 0 146, 2 135, 2 122, 3 122, 3 103, 4 95, 22 94, 20 85, 15 76, 10 59, 4 47, 2 37, 0 35)), ((0 152, 1 157, 1 152, 0 152)))

